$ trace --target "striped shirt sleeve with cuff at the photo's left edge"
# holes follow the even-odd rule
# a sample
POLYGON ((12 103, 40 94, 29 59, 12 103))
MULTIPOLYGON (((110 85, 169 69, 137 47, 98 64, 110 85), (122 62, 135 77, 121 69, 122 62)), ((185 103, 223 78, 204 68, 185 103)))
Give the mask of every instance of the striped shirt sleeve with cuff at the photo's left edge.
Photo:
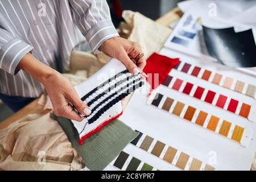
POLYGON ((33 47, 23 40, 0 28, 0 69, 15 75, 19 71, 19 61, 32 49, 33 47))

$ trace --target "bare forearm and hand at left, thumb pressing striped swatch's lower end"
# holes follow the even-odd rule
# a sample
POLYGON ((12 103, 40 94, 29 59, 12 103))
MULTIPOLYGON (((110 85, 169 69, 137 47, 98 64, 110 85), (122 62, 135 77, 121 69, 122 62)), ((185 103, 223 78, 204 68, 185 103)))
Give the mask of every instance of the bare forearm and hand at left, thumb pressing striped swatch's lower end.
POLYGON ((18 67, 44 85, 52 102, 54 113, 57 116, 82 121, 83 118, 73 110, 73 107, 69 103, 72 103, 79 113, 83 115, 90 115, 92 112, 90 108, 81 101, 73 85, 67 78, 41 63, 30 53, 22 58, 18 67))

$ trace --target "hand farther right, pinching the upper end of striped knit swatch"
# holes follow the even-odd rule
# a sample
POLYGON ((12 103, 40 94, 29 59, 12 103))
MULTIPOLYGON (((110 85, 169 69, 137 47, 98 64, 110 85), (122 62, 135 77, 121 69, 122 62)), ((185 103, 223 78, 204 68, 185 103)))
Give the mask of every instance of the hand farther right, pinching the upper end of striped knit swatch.
POLYGON ((130 40, 119 37, 111 38, 102 43, 99 49, 106 55, 122 61, 129 72, 135 75, 146 66, 146 59, 144 57, 137 60, 137 57, 143 53, 141 46, 130 40), (134 60, 137 60, 137 63, 134 63, 134 60))

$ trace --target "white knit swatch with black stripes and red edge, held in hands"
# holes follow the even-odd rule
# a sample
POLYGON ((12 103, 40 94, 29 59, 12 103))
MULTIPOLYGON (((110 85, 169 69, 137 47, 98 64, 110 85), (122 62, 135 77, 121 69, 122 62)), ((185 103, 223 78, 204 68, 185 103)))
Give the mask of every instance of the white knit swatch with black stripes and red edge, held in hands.
POLYGON ((122 114, 121 100, 144 84, 141 75, 133 75, 118 60, 112 59, 92 77, 75 86, 79 97, 92 114, 82 122, 72 121, 80 143, 122 114))

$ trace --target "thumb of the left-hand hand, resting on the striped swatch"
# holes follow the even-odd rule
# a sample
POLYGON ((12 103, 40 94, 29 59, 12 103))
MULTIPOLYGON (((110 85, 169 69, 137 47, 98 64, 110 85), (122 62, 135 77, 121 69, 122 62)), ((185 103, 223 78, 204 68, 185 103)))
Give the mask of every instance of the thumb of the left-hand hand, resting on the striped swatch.
POLYGON ((77 95, 76 91, 69 93, 67 98, 73 106, 75 106, 76 110, 79 111, 79 113, 83 115, 90 115, 92 113, 92 110, 90 107, 88 107, 77 95))

